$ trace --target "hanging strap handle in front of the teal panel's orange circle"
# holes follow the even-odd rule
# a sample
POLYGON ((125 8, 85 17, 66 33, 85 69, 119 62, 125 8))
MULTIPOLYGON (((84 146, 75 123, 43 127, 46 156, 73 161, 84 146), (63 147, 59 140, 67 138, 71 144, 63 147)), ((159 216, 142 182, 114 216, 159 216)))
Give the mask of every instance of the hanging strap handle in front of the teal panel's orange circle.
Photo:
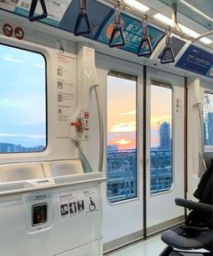
POLYGON ((125 35, 121 26, 121 5, 118 5, 115 7, 115 26, 113 32, 111 33, 108 46, 113 48, 123 45, 125 45, 125 35), (115 43, 115 40, 118 36, 120 36, 121 41, 115 43))

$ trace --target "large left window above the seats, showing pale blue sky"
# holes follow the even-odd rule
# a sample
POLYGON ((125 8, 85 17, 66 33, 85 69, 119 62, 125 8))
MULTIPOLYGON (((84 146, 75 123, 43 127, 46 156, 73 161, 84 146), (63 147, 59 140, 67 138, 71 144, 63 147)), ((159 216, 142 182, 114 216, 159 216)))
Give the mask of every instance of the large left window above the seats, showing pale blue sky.
POLYGON ((46 62, 42 54, 0 44, 0 153, 46 147, 46 62))

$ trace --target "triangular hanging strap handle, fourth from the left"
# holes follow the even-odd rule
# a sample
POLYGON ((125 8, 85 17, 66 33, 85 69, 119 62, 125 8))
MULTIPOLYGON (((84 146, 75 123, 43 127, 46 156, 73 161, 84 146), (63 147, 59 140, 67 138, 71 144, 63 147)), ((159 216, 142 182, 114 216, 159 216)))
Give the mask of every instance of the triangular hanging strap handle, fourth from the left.
POLYGON ((148 23, 147 23, 147 18, 143 21, 143 36, 142 36, 142 41, 138 47, 137 50, 137 56, 138 57, 143 57, 143 56, 149 56, 153 53, 153 46, 150 40, 150 35, 148 33, 148 23), (147 51, 142 52, 144 50, 144 47, 148 46, 147 51))

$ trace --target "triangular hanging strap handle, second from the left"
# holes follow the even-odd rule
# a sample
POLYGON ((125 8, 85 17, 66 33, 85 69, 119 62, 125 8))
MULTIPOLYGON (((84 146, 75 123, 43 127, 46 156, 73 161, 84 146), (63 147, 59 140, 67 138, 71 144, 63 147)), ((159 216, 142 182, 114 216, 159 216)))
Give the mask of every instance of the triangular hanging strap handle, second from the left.
POLYGON ((90 24, 90 21, 88 18, 87 5, 88 5, 88 0, 80 0, 79 15, 76 20, 75 29, 74 29, 74 34, 76 36, 91 33, 91 31, 92 31, 92 27, 91 27, 91 24, 90 24), (85 20, 85 22, 87 24, 87 29, 79 31, 79 27, 80 27, 80 24, 83 19, 85 20))

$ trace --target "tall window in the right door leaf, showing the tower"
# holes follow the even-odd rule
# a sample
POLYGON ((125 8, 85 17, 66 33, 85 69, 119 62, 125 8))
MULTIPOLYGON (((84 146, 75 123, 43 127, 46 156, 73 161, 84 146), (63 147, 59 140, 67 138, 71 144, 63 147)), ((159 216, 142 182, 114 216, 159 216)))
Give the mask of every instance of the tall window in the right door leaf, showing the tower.
POLYGON ((152 81, 151 85, 151 194, 172 185, 172 90, 152 81))

